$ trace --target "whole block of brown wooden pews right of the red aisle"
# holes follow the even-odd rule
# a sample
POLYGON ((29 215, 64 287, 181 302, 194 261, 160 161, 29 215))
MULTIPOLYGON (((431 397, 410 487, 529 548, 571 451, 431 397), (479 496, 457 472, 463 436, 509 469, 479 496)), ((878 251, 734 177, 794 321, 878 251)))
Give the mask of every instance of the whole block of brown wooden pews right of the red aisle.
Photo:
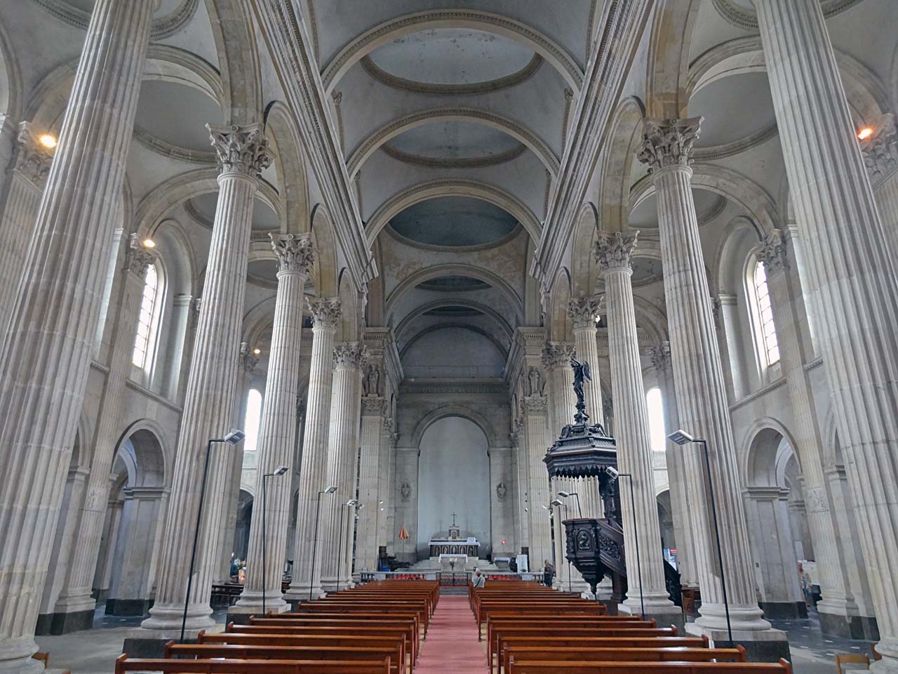
POLYGON ((788 661, 746 662, 742 646, 709 648, 642 616, 532 583, 469 588, 490 674, 791 674, 788 661))

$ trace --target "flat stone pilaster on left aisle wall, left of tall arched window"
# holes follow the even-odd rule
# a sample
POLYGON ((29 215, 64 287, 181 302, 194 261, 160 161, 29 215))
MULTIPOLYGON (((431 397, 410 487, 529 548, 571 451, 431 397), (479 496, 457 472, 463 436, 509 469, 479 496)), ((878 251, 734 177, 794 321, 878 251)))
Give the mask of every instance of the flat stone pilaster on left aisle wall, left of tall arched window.
POLYGON ((132 237, 122 268, 124 278, 119 284, 115 323, 112 327, 109 372, 103 382, 97 427, 92 439, 91 474, 87 481, 84 507, 69 559, 66 582, 55 609, 55 613, 65 614, 56 617, 63 632, 89 629, 93 624, 93 609, 96 606, 96 601, 92 598, 93 572, 100 552, 106 502, 109 501, 109 475, 121 433, 125 382, 131 371, 140 297, 144 291, 146 270, 154 264, 155 259, 153 251, 138 244, 136 237, 132 237))

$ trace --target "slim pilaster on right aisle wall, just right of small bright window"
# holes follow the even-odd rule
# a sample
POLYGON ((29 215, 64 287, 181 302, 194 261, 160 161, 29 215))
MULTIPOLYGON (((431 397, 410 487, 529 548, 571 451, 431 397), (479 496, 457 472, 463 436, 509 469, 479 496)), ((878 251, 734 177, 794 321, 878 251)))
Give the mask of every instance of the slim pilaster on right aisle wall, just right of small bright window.
MULTIPOLYGON (((665 341, 656 347, 652 347, 651 356, 652 365, 655 367, 657 374, 658 388, 661 389, 662 404, 664 405, 665 432, 673 432, 680 428, 680 417, 676 411, 670 342, 665 341)), ((667 478, 671 485, 671 507, 674 509, 677 572, 680 573, 680 584, 682 586, 696 588, 699 586, 699 577, 695 567, 695 541, 692 539, 693 525, 682 451, 673 442, 668 441, 665 458, 667 459, 667 478)))

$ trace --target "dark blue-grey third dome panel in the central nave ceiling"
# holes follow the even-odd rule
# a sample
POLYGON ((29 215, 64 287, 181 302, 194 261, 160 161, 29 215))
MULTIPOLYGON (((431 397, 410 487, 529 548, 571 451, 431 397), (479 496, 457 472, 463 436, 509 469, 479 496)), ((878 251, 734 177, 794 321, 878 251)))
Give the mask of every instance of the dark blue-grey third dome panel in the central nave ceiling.
POLYGON ((409 206, 390 221, 393 231, 424 245, 495 244, 517 221, 502 208, 470 197, 440 197, 409 206))

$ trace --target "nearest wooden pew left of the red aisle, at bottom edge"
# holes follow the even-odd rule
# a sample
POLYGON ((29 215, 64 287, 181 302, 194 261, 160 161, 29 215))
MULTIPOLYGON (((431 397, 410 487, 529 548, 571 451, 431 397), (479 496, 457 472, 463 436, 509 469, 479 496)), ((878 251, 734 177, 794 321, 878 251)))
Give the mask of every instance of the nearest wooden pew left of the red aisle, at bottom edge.
POLYGON ((128 658, 127 653, 122 653, 116 658, 115 674, 128 671, 162 674, 389 674, 390 664, 386 660, 163 660, 128 658))

